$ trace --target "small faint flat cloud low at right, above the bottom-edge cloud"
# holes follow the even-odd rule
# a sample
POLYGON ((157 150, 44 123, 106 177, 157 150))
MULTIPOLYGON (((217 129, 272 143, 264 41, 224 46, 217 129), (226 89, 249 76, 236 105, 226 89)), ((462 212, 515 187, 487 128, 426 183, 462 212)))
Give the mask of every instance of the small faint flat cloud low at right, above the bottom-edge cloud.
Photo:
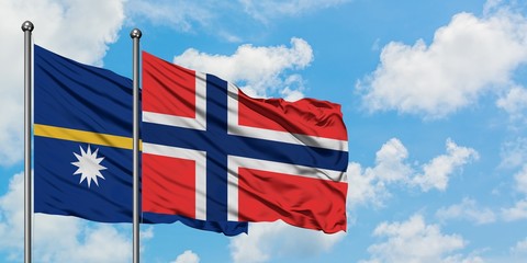
POLYGON ((479 208, 474 199, 463 198, 460 204, 441 207, 436 211, 439 220, 464 219, 476 225, 491 224, 496 220, 496 215, 490 208, 479 208))

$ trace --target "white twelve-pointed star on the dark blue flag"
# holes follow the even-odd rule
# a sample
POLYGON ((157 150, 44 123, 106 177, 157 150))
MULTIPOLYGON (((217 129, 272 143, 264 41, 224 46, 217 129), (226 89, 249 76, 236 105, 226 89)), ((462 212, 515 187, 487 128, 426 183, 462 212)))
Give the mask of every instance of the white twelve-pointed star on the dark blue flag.
POLYGON ((75 174, 80 174, 80 183, 85 181, 85 179, 88 182, 88 187, 90 187, 91 181, 96 182, 97 186, 99 186, 99 182, 97 181, 97 178, 102 178, 101 170, 105 170, 106 168, 101 165, 101 161, 104 159, 104 157, 97 158, 97 152, 99 151, 99 148, 92 153, 91 148, 88 145, 88 150, 85 151, 81 146, 80 148, 80 156, 74 152, 75 157, 77 157, 77 162, 71 162, 71 164, 78 167, 77 171, 75 171, 75 174))

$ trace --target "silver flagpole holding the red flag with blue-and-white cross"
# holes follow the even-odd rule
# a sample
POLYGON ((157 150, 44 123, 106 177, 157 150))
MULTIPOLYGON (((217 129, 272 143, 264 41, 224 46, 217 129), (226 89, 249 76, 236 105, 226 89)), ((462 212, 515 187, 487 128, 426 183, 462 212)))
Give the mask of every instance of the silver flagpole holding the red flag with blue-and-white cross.
POLYGON ((142 33, 134 28, 130 36, 134 42, 134 128, 133 128, 133 155, 134 155, 134 219, 133 219, 133 259, 139 263, 139 38, 142 33))

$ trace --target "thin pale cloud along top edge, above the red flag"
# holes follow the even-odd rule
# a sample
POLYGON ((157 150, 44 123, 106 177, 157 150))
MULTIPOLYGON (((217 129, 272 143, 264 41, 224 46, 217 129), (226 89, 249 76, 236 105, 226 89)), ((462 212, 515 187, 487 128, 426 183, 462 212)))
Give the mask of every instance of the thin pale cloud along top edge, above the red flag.
POLYGON ((335 7, 349 0, 239 0, 245 11, 256 20, 267 23, 279 16, 300 15, 305 12, 335 7))

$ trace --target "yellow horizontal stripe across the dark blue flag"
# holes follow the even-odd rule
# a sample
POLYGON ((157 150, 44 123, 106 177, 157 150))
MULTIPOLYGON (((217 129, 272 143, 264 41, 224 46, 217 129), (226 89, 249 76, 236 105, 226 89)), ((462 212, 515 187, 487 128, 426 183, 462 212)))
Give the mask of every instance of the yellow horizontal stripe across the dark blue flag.
MULTIPOLYGON (((109 134, 99 134, 79 129, 63 128, 43 124, 34 125, 34 135, 54 139, 72 140, 92 145, 110 146, 132 150, 132 138, 109 134)), ((139 150, 143 144, 139 141, 139 150)))

